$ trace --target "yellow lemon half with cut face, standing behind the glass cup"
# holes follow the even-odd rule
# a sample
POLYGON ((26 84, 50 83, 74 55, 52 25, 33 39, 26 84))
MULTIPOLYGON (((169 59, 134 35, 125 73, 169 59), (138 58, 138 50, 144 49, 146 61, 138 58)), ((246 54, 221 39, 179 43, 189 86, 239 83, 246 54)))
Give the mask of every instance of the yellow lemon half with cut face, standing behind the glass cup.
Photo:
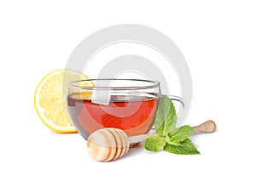
MULTIPOLYGON (((34 95, 34 105, 38 116, 46 126, 59 133, 73 133, 66 107, 68 82, 88 78, 79 71, 58 70, 49 72, 39 82, 34 95)), ((86 85, 94 87, 93 82, 86 81, 86 85)))

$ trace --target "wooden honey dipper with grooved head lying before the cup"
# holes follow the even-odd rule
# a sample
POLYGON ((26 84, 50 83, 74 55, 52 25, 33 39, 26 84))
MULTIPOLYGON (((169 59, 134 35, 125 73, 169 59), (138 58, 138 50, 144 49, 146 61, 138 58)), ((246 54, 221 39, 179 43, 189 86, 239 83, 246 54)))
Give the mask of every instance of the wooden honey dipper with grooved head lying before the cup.
MULTIPOLYGON (((215 129, 215 122, 207 121, 194 127, 194 133, 213 133, 215 129)), ((127 134, 119 128, 102 128, 90 134, 87 139, 87 149, 90 156, 96 161, 113 161, 124 156, 128 152, 130 144, 143 142, 154 134, 155 133, 148 133, 128 137, 127 134)))

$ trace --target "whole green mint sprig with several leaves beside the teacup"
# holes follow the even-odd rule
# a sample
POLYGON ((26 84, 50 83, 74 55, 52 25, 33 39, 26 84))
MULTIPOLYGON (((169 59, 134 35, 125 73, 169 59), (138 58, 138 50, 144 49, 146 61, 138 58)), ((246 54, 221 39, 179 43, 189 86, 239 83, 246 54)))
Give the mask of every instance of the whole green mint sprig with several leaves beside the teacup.
POLYGON ((189 139, 193 127, 185 125, 176 128, 177 115, 172 100, 166 95, 160 98, 160 105, 156 111, 154 128, 159 136, 149 137, 144 148, 149 151, 160 151, 162 148, 173 154, 195 155, 200 154, 189 139))

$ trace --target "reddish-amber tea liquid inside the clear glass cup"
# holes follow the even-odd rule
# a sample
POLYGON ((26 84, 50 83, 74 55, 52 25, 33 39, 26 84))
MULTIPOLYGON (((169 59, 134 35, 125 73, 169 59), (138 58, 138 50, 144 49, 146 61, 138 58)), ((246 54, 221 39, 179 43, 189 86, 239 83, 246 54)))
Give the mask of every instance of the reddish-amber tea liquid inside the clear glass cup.
POLYGON ((129 136, 148 133, 159 100, 152 94, 111 95, 109 105, 101 105, 76 99, 77 95, 69 95, 67 103, 73 123, 85 139, 102 127, 117 127, 129 136))

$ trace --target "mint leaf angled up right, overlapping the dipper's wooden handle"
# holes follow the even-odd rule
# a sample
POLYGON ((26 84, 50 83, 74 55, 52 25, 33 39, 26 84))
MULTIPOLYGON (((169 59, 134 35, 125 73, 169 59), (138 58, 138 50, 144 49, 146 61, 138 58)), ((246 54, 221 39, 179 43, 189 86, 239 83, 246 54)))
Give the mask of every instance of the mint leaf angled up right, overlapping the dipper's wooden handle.
MULTIPOLYGON (((193 130, 194 130, 194 128, 190 127, 189 125, 178 127, 174 133, 168 134, 168 136, 170 137, 169 141, 181 142, 184 139, 188 139, 189 136, 193 133, 193 130)), ((168 141, 166 141, 166 142, 168 142, 168 141)))

